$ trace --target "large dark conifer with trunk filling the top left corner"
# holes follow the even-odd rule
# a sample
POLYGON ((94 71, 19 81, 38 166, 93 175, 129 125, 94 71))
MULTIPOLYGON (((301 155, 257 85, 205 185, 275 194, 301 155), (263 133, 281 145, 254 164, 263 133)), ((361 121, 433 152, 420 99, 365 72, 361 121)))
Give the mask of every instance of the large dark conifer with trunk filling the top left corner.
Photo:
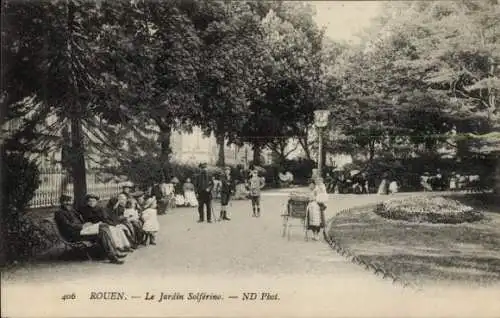
MULTIPOLYGON (((100 101, 95 92, 121 86, 118 81, 107 81, 110 65, 106 62, 112 53, 99 43, 104 24, 99 4, 7 2, 4 12, 2 53, 9 63, 2 74, 7 84, 2 106, 8 107, 8 119, 25 119, 23 129, 11 138, 18 142, 7 146, 37 149, 34 145, 40 138, 47 138, 37 134, 37 125, 51 115, 58 118, 52 128, 69 125, 74 195, 81 198, 86 192, 84 119, 102 112, 94 107, 100 101), (31 105, 36 107, 25 107, 26 98, 32 98, 31 105)), ((115 112, 114 107, 106 108, 108 114, 115 112)))

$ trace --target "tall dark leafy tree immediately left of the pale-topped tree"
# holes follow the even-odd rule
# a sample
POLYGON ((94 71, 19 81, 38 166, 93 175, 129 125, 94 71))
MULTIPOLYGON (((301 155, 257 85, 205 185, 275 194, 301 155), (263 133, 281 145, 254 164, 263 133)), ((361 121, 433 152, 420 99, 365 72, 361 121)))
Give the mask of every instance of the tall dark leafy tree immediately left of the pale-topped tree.
POLYGON ((214 15, 203 39, 203 116, 199 124, 214 133, 223 166, 226 140, 236 142, 248 116, 248 96, 262 64, 260 20, 247 2, 210 2, 214 15))

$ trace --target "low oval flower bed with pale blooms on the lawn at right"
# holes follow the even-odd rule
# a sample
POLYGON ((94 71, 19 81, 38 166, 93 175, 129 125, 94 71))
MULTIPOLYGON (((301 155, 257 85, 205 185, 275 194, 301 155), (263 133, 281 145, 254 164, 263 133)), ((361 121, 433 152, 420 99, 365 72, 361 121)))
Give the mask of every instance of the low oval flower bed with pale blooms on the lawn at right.
POLYGON ((376 214, 393 220, 428 223, 464 223, 484 218, 482 212, 445 197, 416 196, 377 205, 376 214))

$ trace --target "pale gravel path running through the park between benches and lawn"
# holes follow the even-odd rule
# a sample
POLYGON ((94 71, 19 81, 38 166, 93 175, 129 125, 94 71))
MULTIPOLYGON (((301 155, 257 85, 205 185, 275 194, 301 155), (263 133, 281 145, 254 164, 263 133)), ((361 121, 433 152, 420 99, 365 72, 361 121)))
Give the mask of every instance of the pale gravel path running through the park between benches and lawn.
MULTIPOLYGON (((249 201, 233 201, 232 220, 212 224, 197 223, 197 211, 178 208, 169 215, 159 216, 161 230, 156 246, 142 247, 131 253, 124 265, 106 261, 72 261, 36 264, 4 273, 4 279, 14 281, 54 281, 73 276, 106 276, 116 272, 164 275, 290 274, 319 275, 360 272, 358 267, 333 253, 324 242, 304 241, 300 227, 292 228, 292 238, 281 237, 284 204, 287 192, 267 192, 262 198, 262 216, 251 217, 249 201), (335 266, 332 266, 332 262, 335 266), (35 270, 36 268, 36 270, 35 270)), ((381 200, 380 196, 331 195, 327 218, 341 209, 381 200)), ((382 197, 383 198, 383 197, 382 197)), ((218 214, 219 204, 215 203, 218 214)), ((293 220, 298 224, 298 220, 293 220)))

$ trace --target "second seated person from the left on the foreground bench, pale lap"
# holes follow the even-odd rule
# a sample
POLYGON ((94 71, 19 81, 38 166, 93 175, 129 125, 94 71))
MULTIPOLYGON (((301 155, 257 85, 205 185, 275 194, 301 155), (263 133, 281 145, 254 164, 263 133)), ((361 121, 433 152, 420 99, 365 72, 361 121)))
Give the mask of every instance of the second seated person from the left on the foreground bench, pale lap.
POLYGON ((102 223, 109 227, 111 238, 119 251, 130 251, 131 244, 125 233, 115 226, 115 222, 107 212, 98 206, 99 197, 88 194, 85 205, 80 209, 83 221, 88 223, 102 223))

